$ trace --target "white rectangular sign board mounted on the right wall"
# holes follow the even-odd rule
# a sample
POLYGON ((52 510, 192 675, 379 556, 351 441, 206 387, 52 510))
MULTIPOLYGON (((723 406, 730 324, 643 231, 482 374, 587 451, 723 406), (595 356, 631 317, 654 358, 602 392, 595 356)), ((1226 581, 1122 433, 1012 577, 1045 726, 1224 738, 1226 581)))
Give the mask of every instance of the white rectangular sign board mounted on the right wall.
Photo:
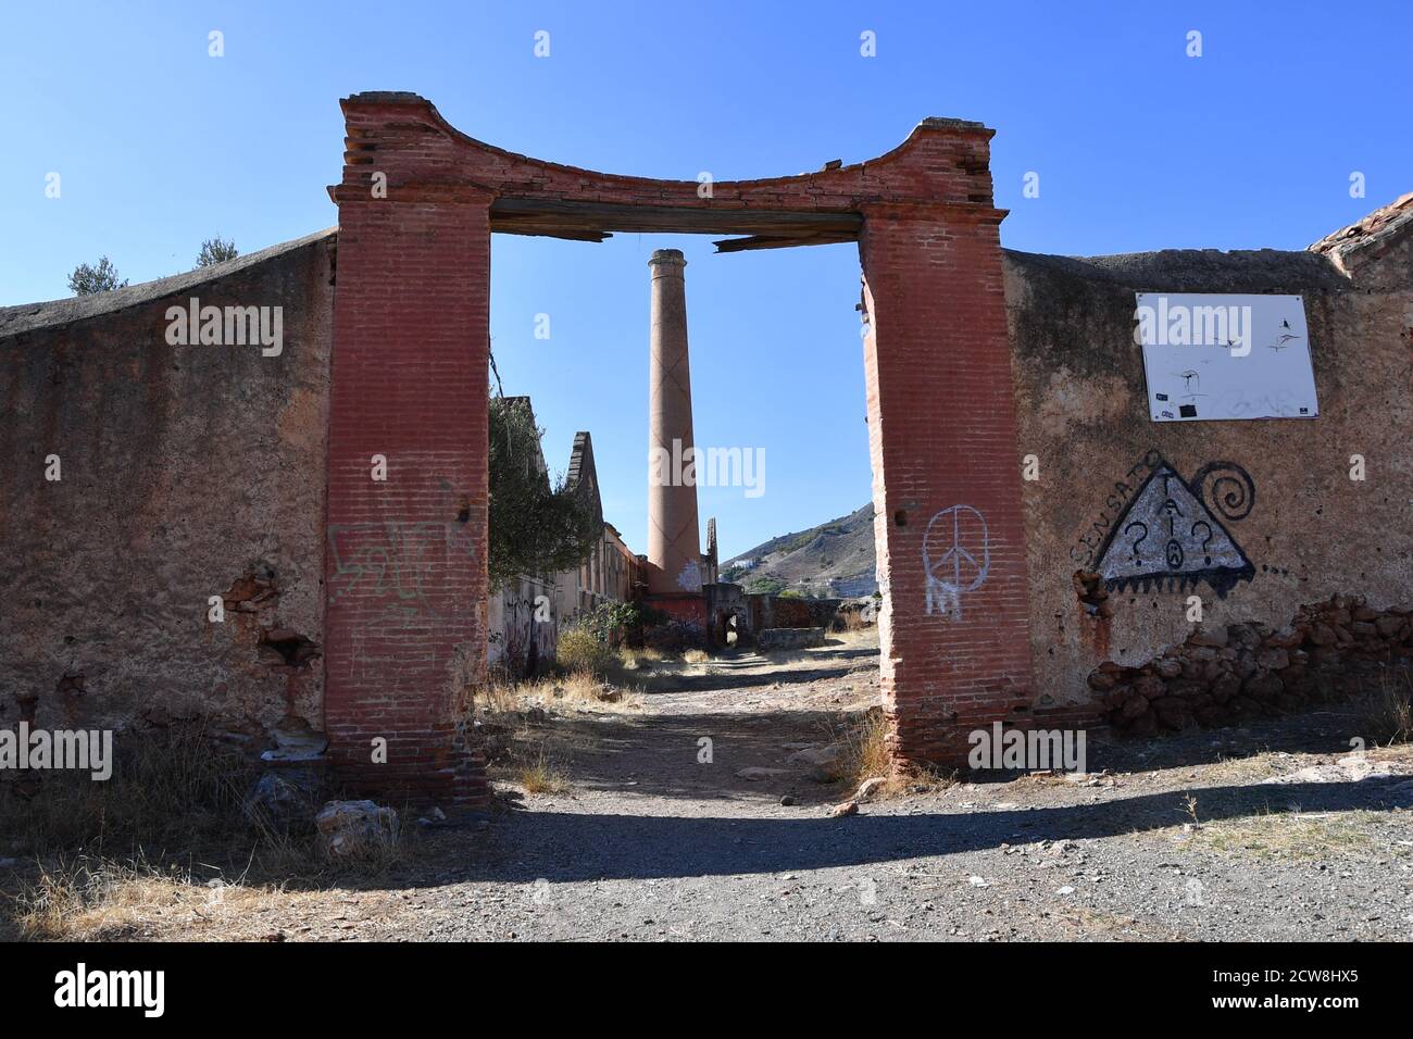
POLYGON ((1320 414, 1303 297, 1137 293, 1136 317, 1154 423, 1320 414))

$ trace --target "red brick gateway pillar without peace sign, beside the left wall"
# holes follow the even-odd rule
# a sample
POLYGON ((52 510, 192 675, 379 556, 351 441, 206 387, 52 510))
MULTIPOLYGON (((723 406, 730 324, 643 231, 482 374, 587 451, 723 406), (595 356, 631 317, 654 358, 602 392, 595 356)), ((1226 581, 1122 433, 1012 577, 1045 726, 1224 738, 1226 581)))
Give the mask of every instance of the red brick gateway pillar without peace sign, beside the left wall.
POLYGON ((486 664, 490 199, 360 194, 339 189, 325 727, 352 787, 476 803, 455 721, 486 664))

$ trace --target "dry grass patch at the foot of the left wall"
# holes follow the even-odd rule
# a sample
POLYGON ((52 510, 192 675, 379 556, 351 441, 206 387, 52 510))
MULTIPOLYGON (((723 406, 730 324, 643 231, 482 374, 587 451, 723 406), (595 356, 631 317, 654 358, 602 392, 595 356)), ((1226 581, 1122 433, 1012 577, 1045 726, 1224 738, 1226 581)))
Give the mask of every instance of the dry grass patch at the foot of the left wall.
POLYGON ((394 834, 331 861, 312 827, 283 833, 249 817, 244 794, 263 766, 205 724, 129 732, 116 749, 106 782, 54 772, 37 787, 0 785, 0 831, 21 854, 0 892, 0 932, 126 937, 175 916, 199 924, 213 919, 208 903, 377 876, 411 852, 394 834))

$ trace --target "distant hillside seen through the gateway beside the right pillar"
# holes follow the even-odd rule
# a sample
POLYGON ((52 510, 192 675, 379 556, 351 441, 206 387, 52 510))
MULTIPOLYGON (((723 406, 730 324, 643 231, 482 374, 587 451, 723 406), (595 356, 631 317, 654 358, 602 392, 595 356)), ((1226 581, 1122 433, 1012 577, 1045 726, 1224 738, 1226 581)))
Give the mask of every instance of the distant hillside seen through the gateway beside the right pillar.
POLYGON ((873 573, 873 505, 794 534, 773 537, 721 565, 721 580, 746 591, 794 589, 855 597, 877 591, 873 573))

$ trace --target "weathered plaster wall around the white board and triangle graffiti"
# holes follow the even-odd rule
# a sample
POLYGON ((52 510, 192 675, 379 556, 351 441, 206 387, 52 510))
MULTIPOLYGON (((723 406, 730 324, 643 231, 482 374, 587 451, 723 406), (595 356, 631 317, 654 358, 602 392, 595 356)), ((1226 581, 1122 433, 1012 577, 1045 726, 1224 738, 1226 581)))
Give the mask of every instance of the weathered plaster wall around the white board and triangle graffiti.
POLYGON ((1017 447, 1040 465, 1040 479, 1023 485, 1034 708, 1102 711, 1087 676, 1183 643, 1195 628, 1188 595, 1202 598, 1208 630, 1252 621, 1280 629, 1334 594, 1375 609, 1413 602, 1410 249, 1405 225, 1356 263, 1273 250, 1007 253, 1017 447), (1150 421, 1135 291, 1304 295, 1320 417, 1150 421), (1366 459, 1365 482, 1349 478, 1354 454, 1366 459), (1087 608, 1075 574, 1096 570, 1098 548, 1160 458, 1211 506, 1253 574, 1229 588, 1108 589, 1102 609, 1087 608))

